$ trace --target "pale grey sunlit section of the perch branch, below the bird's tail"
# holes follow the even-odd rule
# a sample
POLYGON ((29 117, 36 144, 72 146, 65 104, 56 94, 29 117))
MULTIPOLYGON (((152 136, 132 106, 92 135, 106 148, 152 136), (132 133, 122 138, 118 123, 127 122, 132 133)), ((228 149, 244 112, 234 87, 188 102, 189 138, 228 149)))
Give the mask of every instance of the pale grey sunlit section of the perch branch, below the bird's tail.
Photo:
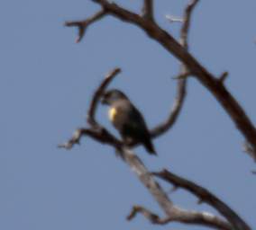
MULTIPOLYGON (((160 207, 163 208, 167 217, 160 219, 160 217, 155 214, 150 214, 150 212, 147 213, 145 208, 139 208, 140 210, 137 209, 137 212, 142 212, 146 217, 156 217, 154 220, 158 221, 159 223, 155 222, 155 224, 160 224, 160 222, 165 224, 171 221, 184 224, 211 226, 216 229, 233 229, 228 222, 219 217, 215 217, 210 213, 190 211, 183 208, 178 208, 178 206, 174 206, 165 191, 160 187, 160 184, 153 179, 151 173, 149 173, 137 155, 134 155, 133 152, 127 148, 123 148, 122 155, 124 162, 129 164, 133 172, 139 177, 140 181, 142 181, 145 187, 151 192, 151 195, 154 197, 154 199, 156 199, 160 207)), ((130 215, 130 217, 132 218, 133 215, 130 215)))

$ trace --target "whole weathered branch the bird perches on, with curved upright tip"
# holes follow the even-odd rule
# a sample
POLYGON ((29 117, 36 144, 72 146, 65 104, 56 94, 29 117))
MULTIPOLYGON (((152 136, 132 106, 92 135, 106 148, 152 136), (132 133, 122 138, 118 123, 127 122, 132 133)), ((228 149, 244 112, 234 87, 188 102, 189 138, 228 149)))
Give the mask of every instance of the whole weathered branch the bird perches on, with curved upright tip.
MULTIPOLYGON (((135 155, 132 150, 127 146, 124 146, 121 141, 116 139, 104 127, 97 123, 94 117, 97 108, 96 105, 100 100, 100 95, 105 91, 105 87, 114 79, 114 75, 119 71, 120 70, 116 68, 108 74, 93 95, 92 102, 90 103, 89 111, 87 113, 89 117, 87 122, 91 128, 79 128, 67 143, 59 145, 59 147, 70 149, 75 144, 78 144, 80 138, 83 136, 92 137, 102 144, 113 146, 114 149, 122 156, 123 161, 130 166, 133 173, 137 175, 138 179, 142 181, 142 184, 150 191, 152 197, 160 205, 160 208, 164 210, 166 218, 162 220, 158 218, 159 223, 162 222, 162 224, 164 224, 164 220, 166 222, 176 221, 185 224, 211 226, 216 229, 221 228, 224 230, 232 230, 232 226, 220 217, 215 217, 214 215, 206 212, 190 211, 174 206, 166 192, 161 188, 160 184, 155 181, 154 175, 151 174, 142 163, 142 160, 135 155)), ((146 213, 145 210, 144 213, 146 213)))

